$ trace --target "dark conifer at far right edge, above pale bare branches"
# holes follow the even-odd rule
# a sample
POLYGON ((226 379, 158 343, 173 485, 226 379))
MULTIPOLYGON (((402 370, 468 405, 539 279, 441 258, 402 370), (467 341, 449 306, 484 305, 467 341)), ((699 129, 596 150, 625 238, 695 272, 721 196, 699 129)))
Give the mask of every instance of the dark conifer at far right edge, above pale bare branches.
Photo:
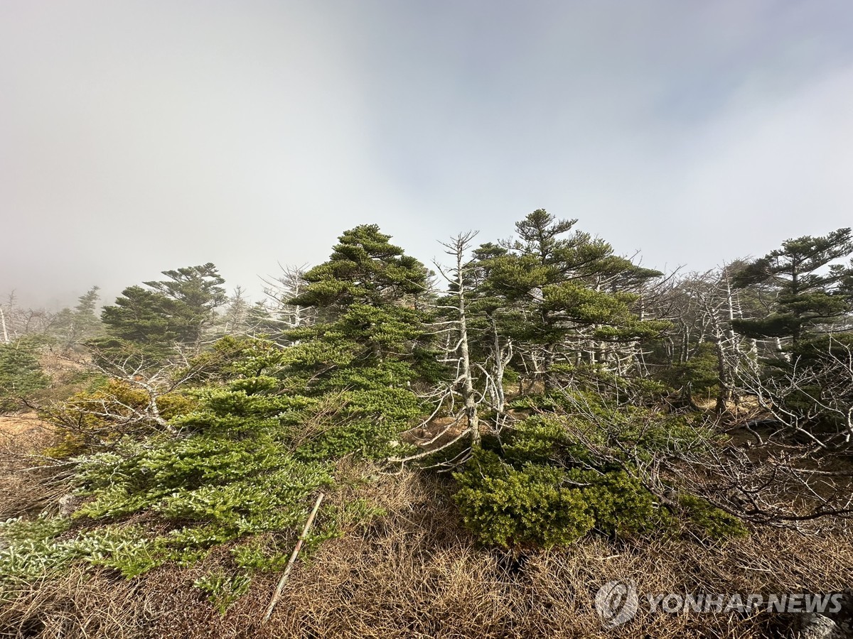
POLYGON ((779 423, 824 449, 831 442, 838 445, 835 429, 843 435, 842 446, 850 444, 850 421, 838 417, 847 410, 839 406, 849 409, 850 399, 838 389, 849 377, 845 366, 853 344, 853 265, 832 262, 851 252, 850 228, 806 235, 786 240, 734 278, 764 309, 760 316, 734 320, 734 330, 776 344, 775 357, 763 361, 767 366, 753 363, 743 371, 741 383, 779 423))

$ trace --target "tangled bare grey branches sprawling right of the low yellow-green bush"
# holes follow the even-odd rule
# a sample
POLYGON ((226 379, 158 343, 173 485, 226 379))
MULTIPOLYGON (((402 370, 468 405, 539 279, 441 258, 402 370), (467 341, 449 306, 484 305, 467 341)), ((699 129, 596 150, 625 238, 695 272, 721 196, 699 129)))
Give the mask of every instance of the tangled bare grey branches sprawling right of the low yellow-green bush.
MULTIPOLYGON (((752 523, 817 534, 847 530, 853 519, 853 470, 831 459, 809 458, 809 446, 744 446, 719 435, 712 420, 661 429, 660 412, 633 416, 625 436, 583 394, 567 393, 572 419, 566 437, 596 465, 616 466, 639 481, 661 504, 679 508, 679 492, 704 498, 752 523), (651 435, 653 449, 639 443, 651 435)), ((594 467, 589 467, 594 469, 594 467)))

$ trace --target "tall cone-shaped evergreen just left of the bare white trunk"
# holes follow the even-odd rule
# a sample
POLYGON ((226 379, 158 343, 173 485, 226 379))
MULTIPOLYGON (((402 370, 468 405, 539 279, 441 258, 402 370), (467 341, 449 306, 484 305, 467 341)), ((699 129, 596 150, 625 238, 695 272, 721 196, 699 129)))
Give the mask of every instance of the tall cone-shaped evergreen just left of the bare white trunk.
POLYGON ((287 388, 336 394, 344 414, 316 441, 376 454, 421 413, 413 392, 434 372, 425 314, 427 269, 376 225, 346 231, 327 262, 305 273, 290 304, 316 310, 316 324, 289 331, 287 388))

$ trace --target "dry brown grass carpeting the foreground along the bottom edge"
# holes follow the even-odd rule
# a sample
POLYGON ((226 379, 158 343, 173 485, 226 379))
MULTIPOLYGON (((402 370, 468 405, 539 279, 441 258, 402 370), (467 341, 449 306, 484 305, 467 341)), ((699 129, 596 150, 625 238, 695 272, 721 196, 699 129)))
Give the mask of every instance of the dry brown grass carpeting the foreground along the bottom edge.
MULTIPOLYGON (((513 555, 475 548, 435 478, 380 475, 357 492, 387 515, 299 561, 269 625, 260 619, 276 575, 254 579, 224 617, 192 587, 225 561, 223 552, 204 567, 164 568, 133 582, 74 572, 37 584, 0 609, 0 636, 605 637, 613 633, 601 629, 593 597, 611 579, 633 579, 641 593, 840 590, 853 580, 849 538, 764 530, 722 548, 591 538, 567 550, 513 555)), ((618 636, 787 636, 790 621, 640 613, 618 636)))

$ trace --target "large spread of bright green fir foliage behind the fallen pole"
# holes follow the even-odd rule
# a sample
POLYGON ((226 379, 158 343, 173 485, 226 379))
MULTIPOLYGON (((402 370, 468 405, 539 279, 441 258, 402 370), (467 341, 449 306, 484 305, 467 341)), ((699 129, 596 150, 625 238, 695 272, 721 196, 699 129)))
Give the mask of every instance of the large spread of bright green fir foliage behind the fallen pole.
MULTIPOLYGON (((190 389, 192 401, 176 404, 177 435, 124 436, 107 452, 77 458, 73 483, 83 503, 71 529, 64 519, 56 530, 53 520, 39 524, 44 533, 20 524, 20 538, 32 543, 10 548, 34 566, 45 558, 55 566, 79 560, 134 577, 166 561, 191 565, 214 546, 257 536, 292 544, 316 493, 334 490, 339 459, 380 458, 400 423, 420 411, 413 394, 393 388, 293 393, 284 348, 264 340, 247 340, 240 354, 232 347, 221 385, 190 389), (133 525, 139 519, 148 533, 133 525)), ((347 512, 324 516, 309 545, 334 537, 338 521, 371 512, 358 500, 339 509, 347 512)), ((251 563, 245 552, 241 559, 251 563)), ((0 557, 0 573, 36 572, 0 557)))

